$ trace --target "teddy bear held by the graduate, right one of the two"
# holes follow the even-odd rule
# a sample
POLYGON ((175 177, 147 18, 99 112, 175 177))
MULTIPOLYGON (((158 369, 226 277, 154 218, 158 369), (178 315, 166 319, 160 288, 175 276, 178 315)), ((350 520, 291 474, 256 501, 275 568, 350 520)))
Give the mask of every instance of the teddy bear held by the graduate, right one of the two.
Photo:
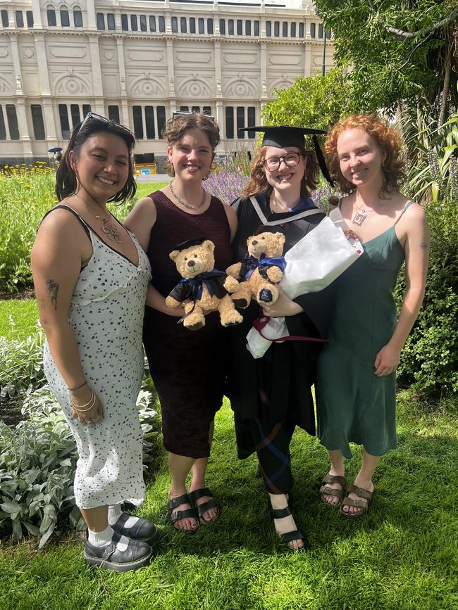
POLYGON ((276 284, 285 270, 283 246, 285 234, 276 227, 259 227, 247 239, 248 253, 242 262, 236 262, 226 273, 240 281, 232 298, 244 309, 254 298, 259 305, 271 305, 278 299, 276 284))

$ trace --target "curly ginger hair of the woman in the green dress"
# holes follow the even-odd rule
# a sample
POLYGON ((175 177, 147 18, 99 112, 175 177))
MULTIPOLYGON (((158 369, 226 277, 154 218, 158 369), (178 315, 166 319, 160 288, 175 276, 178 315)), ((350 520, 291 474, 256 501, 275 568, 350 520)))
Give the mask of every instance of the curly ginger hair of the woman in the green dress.
POLYGON ((345 179, 340 171, 337 143, 339 136, 347 129, 361 129, 376 141, 383 157, 382 193, 399 191, 400 182, 405 179, 402 139, 396 129, 390 127, 387 121, 376 114, 349 115, 338 122, 326 138, 324 150, 328 158, 328 167, 331 176, 338 182, 340 190, 343 193, 351 193, 356 189, 356 186, 345 179))

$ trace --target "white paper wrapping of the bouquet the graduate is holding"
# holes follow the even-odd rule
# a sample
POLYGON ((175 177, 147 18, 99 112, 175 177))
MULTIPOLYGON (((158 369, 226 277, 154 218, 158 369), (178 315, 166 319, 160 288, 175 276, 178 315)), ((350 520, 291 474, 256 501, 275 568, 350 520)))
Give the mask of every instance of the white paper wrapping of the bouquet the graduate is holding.
MULTIPOLYGON (((347 238, 347 229, 336 208, 285 254, 286 267, 280 286, 291 299, 329 286, 363 252, 358 239, 347 238)), ((270 318, 261 336, 252 328, 247 334, 247 350, 254 358, 264 356, 273 339, 288 336, 285 318, 270 318)))

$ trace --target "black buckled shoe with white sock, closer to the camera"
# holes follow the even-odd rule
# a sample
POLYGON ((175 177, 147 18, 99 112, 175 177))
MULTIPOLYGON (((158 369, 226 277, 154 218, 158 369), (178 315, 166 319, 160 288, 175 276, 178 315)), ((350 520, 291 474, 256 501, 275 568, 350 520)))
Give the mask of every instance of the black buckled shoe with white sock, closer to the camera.
POLYGON ((153 549, 142 540, 128 539, 128 547, 121 551, 116 547, 120 534, 115 533, 108 545, 97 547, 85 542, 83 557, 89 566, 101 566, 116 572, 128 572, 146 566, 151 561, 153 549))

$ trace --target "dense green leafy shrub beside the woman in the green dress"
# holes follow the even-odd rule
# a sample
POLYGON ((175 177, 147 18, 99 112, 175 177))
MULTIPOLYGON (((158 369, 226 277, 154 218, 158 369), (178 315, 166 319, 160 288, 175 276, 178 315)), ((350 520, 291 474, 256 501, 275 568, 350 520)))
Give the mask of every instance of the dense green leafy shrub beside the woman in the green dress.
MULTIPOLYGON (((431 255, 423 307, 401 357, 398 378, 421 393, 458 392, 458 201, 425 208, 431 255)), ((395 297, 400 307, 403 274, 395 297)))

